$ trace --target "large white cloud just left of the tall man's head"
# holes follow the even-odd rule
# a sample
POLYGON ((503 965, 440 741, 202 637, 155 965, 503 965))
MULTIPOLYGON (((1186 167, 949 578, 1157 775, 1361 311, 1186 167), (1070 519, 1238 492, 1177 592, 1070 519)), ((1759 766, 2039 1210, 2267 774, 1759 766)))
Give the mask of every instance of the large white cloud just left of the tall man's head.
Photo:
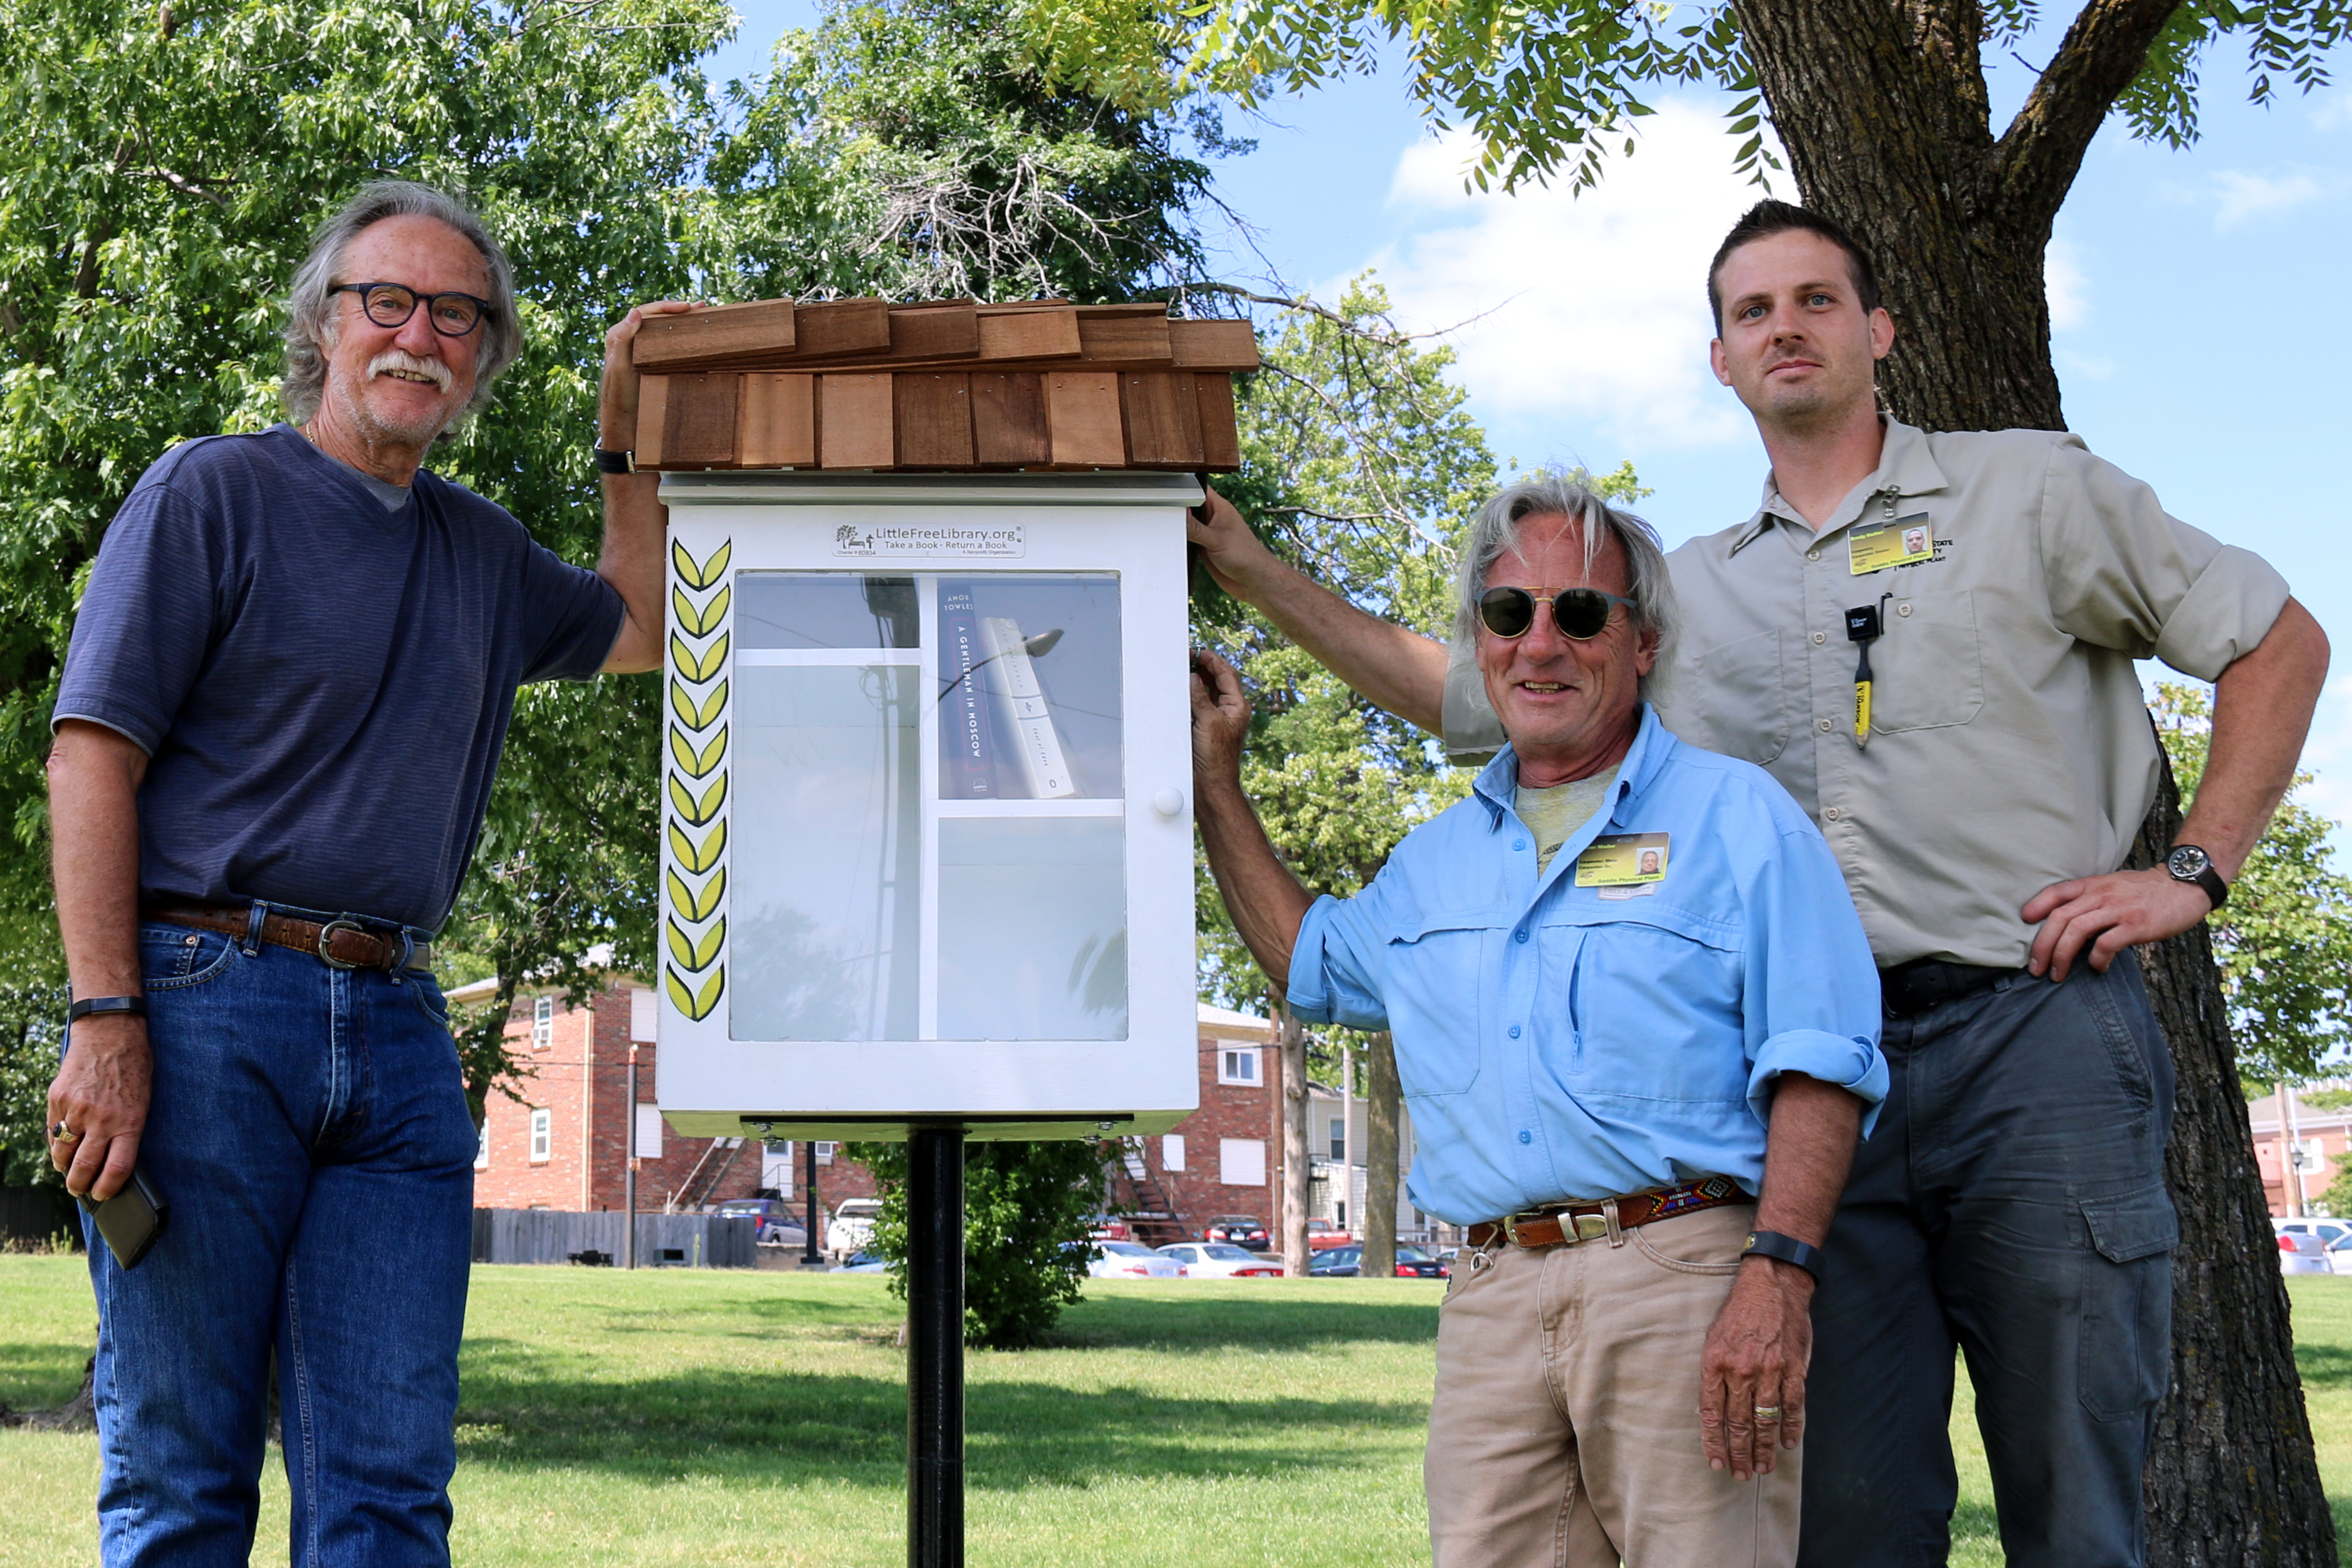
POLYGON ((1762 193, 1731 172, 1736 141, 1708 99, 1668 99, 1632 158, 1583 195, 1463 190, 1470 141, 1425 139, 1397 162, 1390 207, 1414 233, 1381 268, 1399 324, 1454 327, 1458 376, 1491 414, 1559 421, 1557 447, 1599 430, 1635 451, 1750 442, 1708 369, 1705 270, 1762 193))

